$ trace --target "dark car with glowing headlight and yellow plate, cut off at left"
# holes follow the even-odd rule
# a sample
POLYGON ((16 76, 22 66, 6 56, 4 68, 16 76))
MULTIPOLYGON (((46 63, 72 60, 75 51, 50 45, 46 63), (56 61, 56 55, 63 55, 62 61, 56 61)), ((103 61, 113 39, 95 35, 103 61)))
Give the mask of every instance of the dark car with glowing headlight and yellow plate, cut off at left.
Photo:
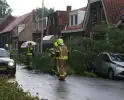
POLYGON ((0 48, 0 73, 16 74, 16 63, 8 54, 8 51, 0 48))

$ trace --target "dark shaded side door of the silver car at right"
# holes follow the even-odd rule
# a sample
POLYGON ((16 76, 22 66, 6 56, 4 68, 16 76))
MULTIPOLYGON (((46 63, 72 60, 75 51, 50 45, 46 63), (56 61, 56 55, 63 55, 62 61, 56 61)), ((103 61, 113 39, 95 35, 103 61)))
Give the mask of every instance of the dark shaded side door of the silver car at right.
POLYGON ((108 68, 110 67, 110 58, 107 54, 102 54, 101 72, 104 75, 108 74, 108 68))

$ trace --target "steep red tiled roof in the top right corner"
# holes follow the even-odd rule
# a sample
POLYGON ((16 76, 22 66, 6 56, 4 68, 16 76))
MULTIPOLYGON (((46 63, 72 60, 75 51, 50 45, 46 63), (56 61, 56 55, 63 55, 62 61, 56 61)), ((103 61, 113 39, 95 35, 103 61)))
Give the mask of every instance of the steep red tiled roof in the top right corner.
POLYGON ((103 0, 109 24, 115 23, 124 9, 124 0, 103 0))

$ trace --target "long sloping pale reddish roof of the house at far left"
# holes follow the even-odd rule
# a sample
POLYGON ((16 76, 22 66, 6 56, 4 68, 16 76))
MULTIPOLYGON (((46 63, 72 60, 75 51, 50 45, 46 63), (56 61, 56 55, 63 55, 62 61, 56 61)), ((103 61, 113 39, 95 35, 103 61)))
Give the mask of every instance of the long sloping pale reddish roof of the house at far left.
MULTIPOLYGON (((31 13, 31 12, 30 12, 31 13)), ((11 22, 2 32, 5 33, 14 29, 17 25, 19 25, 30 13, 24 14, 22 16, 17 17, 13 22, 11 22)))

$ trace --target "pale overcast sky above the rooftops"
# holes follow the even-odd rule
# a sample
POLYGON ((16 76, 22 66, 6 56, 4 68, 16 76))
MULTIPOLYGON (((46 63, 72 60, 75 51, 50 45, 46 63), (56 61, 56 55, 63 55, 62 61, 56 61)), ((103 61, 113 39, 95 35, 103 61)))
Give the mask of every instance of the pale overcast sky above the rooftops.
MULTIPOLYGON (((36 7, 42 7, 42 0, 7 0, 7 2, 13 9, 13 15, 22 15, 36 7)), ((77 9, 86 6, 87 0, 44 0, 44 5, 55 10, 66 10, 67 5, 77 9)))

